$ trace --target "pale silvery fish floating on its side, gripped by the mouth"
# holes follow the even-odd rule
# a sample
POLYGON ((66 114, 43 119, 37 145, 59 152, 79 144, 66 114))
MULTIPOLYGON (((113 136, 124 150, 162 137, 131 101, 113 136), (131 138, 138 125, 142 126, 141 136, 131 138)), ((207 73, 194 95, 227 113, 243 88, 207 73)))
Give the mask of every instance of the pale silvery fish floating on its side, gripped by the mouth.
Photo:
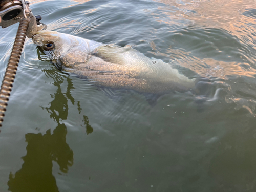
POLYGON ((146 57, 130 45, 106 45, 56 31, 39 31, 32 40, 63 72, 98 87, 158 95, 195 87, 195 78, 189 79, 170 63, 146 57))

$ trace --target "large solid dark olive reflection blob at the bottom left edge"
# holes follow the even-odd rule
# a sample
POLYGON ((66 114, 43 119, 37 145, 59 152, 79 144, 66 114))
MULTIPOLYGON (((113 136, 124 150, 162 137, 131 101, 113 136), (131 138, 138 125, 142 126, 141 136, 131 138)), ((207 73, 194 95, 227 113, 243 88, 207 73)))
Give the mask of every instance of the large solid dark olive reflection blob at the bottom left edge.
POLYGON ((9 191, 58 191, 52 175, 52 161, 56 161, 63 173, 73 164, 73 151, 66 143, 67 127, 58 124, 53 134, 26 134, 27 155, 22 157, 22 168, 9 175, 9 191))

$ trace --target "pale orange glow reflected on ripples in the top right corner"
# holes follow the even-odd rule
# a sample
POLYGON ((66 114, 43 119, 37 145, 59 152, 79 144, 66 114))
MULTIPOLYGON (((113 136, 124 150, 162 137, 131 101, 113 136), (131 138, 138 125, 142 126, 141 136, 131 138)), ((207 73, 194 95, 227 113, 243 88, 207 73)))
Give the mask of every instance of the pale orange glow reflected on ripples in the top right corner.
MULTIPOLYGON (((158 0, 154 0, 159 2, 158 0)), ((158 7, 158 11, 153 12, 153 16, 157 16, 158 22, 164 22, 169 25, 179 26, 197 26, 210 29, 220 29, 228 35, 232 35, 233 38, 237 38, 240 45, 233 45, 236 51, 244 53, 243 56, 247 56, 247 53, 254 51, 255 48, 255 18, 252 17, 254 9, 256 9, 255 1, 175 1, 175 0, 160 0, 164 3, 163 6, 158 7), (254 8, 254 9, 253 9, 254 8), (165 15, 165 17, 159 17, 159 15, 165 15), (248 17, 248 15, 250 15, 248 17), (184 19, 184 22, 181 20, 184 19), (246 34, 246 35, 245 35, 246 34), (242 46, 241 46, 242 45, 242 46)), ((205 30, 209 34, 210 38, 215 38, 211 41, 212 46, 218 49, 216 42, 220 40, 222 36, 216 36, 211 31, 205 30)), ((183 33, 182 33, 183 34, 183 33)), ((218 34, 220 35, 220 34, 218 34)), ((231 36, 231 38, 232 38, 231 36)), ((193 39, 193 38, 192 38, 193 39)), ((195 39, 194 39, 195 40, 195 39)), ((202 42, 202 41, 201 41, 202 42)), ((225 41, 226 42, 226 41, 225 41)), ((199 44, 200 45, 200 44, 199 44)), ((221 50, 222 51, 222 50, 221 50)), ((247 57, 253 66, 256 61, 255 55, 247 57)))

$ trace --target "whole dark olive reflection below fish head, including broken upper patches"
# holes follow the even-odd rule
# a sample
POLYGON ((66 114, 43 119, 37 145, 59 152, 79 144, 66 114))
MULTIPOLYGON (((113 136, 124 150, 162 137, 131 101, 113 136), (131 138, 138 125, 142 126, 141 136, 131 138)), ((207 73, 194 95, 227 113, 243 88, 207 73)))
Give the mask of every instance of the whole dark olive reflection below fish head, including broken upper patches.
MULTIPOLYGON (((68 167, 73 165, 73 151, 66 143, 67 127, 61 120, 68 117, 68 99, 74 105, 75 100, 71 95, 74 89, 70 78, 63 78, 56 70, 43 70, 48 77, 54 79, 54 86, 57 87, 55 94, 51 95, 53 100, 50 107, 46 109, 50 113, 50 118, 57 123, 56 128, 51 134, 51 129, 46 134, 26 134, 27 155, 22 157, 24 163, 22 168, 15 174, 9 175, 9 191, 12 192, 51 192, 59 191, 55 177, 52 174, 52 161, 57 162, 62 173, 68 172, 68 167), (61 91, 61 83, 68 82, 66 93, 61 91)), ((79 114, 81 113, 80 103, 79 114)), ((86 133, 92 133, 93 128, 89 125, 87 116, 83 116, 83 123, 86 126, 86 133)), ((61 174, 61 173, 59 173, 61 174)))

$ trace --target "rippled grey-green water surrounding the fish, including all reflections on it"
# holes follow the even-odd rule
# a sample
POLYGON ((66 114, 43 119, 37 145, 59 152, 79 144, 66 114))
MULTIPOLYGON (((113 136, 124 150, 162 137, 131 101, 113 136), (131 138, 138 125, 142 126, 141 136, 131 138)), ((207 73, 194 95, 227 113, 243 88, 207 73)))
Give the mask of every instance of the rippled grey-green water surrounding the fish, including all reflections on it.
MULTIPOLYGON (((148 104, 40 58, 26 41, 0 133, 0 191, 255 191, 256 3, 31 1, 48 29, 132 45, 208 79, 148 104), (205 102, 199 103, 203 98, 205 102)), ((0 29, 3 78, 17 24, 0 29)))

